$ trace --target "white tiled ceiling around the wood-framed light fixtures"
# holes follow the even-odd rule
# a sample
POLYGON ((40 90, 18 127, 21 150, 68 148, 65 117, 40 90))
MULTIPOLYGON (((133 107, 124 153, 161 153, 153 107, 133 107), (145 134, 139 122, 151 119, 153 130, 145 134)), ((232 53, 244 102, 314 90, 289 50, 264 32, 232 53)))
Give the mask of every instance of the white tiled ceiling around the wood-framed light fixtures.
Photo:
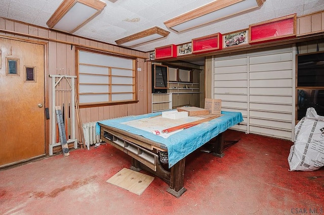
MULTIPOLYGON (((266 0, 257 8, 181 33, 168 29, 164 22, 213 1, 211 0, 101 0, 104 10, 75 31, 77 36, 116 44, 115 40, 158 26, 171 33, 166 38, 147 42, 133 49, 151 51, 168 44, 190 42, 213 33, 228 33, 273 18, 296 13, 302 16, 324 10, 323 0, 266 0)), ((221 1, 221 0, 218 0, 221 1)), ((0 17, 46 27, 47 20, 62 0, 1 0, 0 17)), ((201 60, 201 59, 200 59, 201 60)), ((192 60, 193 61, 193 60, 192 60)), ((199 61, 197 61, 199 62, 199 61)), ((200 63, 199 63, 200 64, 200 63)))

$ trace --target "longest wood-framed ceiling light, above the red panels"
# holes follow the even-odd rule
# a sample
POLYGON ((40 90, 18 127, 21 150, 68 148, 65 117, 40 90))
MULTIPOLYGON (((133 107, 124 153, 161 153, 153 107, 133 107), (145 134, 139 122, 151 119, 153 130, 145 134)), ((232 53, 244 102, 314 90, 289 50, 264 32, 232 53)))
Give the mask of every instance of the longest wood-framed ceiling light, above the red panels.
POLYGON ((266 0, 216 0, 164 22, 177 32, 214 22, 263 5, 266 0))

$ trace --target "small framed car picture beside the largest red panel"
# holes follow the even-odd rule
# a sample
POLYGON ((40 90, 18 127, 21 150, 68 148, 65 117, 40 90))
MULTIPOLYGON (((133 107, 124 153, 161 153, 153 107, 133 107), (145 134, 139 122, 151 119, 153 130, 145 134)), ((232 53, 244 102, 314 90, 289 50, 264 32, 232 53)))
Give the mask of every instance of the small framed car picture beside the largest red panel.
POLYGON ((245 45, 249 43, 249 30, 239 30, 223 35, 223 48, 245 45))

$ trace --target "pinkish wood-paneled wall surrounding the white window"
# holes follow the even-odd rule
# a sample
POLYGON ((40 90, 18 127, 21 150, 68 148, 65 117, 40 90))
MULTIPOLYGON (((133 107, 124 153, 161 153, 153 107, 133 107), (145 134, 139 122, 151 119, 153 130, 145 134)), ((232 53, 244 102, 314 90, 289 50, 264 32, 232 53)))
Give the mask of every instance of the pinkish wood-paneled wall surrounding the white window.
MULTIPOLYGON (((49 101, 48 108, 50 108, 50 113, 52 113, 52 83, 50 80, 51 78, 49 78, 49 75, 76 75, 76 45, 80 45, 83 47, 86 46, 92 49, 98 49, 100 51, 104 50, 107 52, 119 52, 127 56, 137 56, 137 68, 141 69, 141 71, 137 72, 137 103, 80 109, 80 116, 82 118, 83 123, 129 115, 140 115, 151 112, 150 65, 148 65, 149 62, 145 62, 145 59, 148 59, 149 57, 149 53, 123 48, 116 45, 98 42, 91 39, 73 36, 57 31, 52 31, 50 29, 32 26, 4 18, 0 18, 0 30, 3 30, 2 32, 6 34, 17 37, 48 41, 48 50, 46 50, 45 55, 45 65, 47 65, 47 68, 45 68, 47 74, 45 75, 48 80, 45 81, 48 83, 46 89, 46 100, 49 101), (15 35, 15 33, 17 33, 17 35, 15 35), (71 43, 73 45, 71 45, 71 43)), ((55 119, 55 116, 50 116, 50 118, 55 119)), ((51 123, 49 125, 51 125, 51 123)), ((52 128, 50 127, 49 129, 49 134, 51 135, 52 128)), ((78 129, 76 129, 75 132, 76 136, 78 137, 78 129)))

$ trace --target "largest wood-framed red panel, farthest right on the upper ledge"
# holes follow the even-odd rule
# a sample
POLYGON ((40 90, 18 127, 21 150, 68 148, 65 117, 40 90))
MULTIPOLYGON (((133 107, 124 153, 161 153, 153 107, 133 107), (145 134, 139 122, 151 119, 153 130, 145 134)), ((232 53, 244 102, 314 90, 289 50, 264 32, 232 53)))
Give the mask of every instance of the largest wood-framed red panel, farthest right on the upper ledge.
POLYGON ((296 36, 296 14, 249 25, 250 43, 268 42, 296 36))

